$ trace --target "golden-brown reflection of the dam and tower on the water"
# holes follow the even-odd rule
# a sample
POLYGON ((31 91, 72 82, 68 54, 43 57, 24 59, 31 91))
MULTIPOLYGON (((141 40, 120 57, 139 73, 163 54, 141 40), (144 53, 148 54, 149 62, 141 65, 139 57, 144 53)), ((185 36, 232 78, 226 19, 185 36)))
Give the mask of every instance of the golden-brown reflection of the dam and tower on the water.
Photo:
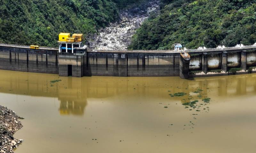
POLYGON ((72 78, 1 70, 0 78, 0 92, 58 98, 58 111, 63 115, 83 115, 90 98, 123 96, 129 100, 135 95, 170 98, 165 92, 166 89, 173 94, 183 92, 186 88, 189 91, 200 88, 209 97, 236 97, 256 92, 256 74, 183 80, 179 77, 72 78), (62 81, 50 83, 51 80, 57 79, 62 81))

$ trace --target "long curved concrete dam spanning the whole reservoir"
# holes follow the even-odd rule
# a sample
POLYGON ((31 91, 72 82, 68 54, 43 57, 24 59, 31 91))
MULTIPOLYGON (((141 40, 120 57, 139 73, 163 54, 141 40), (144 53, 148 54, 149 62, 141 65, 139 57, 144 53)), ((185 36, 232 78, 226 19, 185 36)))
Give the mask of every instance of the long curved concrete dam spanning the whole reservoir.
POLYGON ((86 46, 74 47, 72 52, 63 52, 53 47, 31 49, 23 45, 0 44, 0 69, 72 77, 189 78, 256 72, 256 45, 192 49, 185 52, 90 50, 86 46), (229 72, 232 68, 236 68, 237 71, 229 72))

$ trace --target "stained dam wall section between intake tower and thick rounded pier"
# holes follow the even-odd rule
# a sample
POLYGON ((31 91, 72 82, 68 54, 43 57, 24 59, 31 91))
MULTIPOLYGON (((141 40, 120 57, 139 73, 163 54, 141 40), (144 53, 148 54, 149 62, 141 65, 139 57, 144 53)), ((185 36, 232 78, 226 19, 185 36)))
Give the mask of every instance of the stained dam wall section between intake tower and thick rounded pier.
POLYGON ((84 76, 179 76, 180 54, 87 52, 84 76))

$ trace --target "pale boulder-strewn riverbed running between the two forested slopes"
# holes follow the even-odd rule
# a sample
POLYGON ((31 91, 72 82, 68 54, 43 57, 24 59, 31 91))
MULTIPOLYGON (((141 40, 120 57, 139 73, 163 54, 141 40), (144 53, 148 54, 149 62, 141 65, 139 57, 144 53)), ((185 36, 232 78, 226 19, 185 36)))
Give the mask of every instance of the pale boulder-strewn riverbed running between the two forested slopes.
POLYGON ((132 35, 140 27, 142 22, 151 13, 158 13, 160 10, 159 0, 151 0, 145 4, 120 12, 120 22, 110 24, 100 29, 88 39, 87 44, 91 49, 103 50, 124 50, 131 44, 132 35))

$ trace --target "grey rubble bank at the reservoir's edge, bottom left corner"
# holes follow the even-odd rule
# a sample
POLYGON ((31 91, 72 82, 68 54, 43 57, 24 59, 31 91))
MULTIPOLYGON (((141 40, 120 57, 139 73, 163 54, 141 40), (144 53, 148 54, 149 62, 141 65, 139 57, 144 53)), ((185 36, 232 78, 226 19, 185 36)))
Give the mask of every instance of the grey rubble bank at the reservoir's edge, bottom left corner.
POLYGON ((0 153, 13 153, 23 141, 13 137, 13 134, 22 128, 19 119, 22 118, 15 112, 0 106, 0 153))

